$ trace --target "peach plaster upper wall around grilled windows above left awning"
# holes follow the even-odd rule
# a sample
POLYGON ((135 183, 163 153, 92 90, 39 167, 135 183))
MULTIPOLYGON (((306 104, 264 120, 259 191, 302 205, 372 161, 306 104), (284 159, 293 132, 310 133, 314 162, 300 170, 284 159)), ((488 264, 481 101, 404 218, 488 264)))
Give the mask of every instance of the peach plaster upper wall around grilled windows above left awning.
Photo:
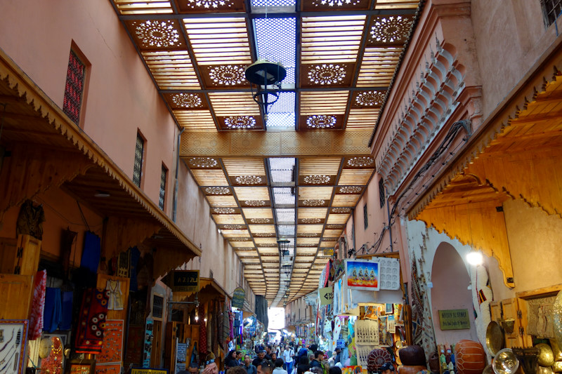
POLYGON ((162 162, 174 169, 176 125, 110 1, 3 1, 1 8, 0 48, 59 107, 74 41, 91 63, 84 131, 132 178, 140 129, 147 140, 141 187, 157 203, 162 162))

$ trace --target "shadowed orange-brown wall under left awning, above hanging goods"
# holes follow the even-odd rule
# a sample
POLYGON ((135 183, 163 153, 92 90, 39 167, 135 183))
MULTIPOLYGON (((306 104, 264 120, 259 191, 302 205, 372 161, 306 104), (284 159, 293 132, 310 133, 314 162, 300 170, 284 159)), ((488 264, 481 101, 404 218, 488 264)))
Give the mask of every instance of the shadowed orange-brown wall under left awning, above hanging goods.
MULTIPOLYGON (((44 194, 39 194, 33 199, 36 204, 43 204, 45 222, 43 223, 43 239, 41 251, 50 255, 60 256, 60 235, 64 229, 77 232, 75 246, 72 246, 70 255, 70 266, 80 266, 82 249, 84 248, 84 233, 89 229, 101 236, 103 229, 103 218, 93 213, 87 206, 81 204, 86 223, 81 217, 76 199, 66 194, 61 189, 53 187, 44 194), (75 262, 74 262, 75 260, 75 262)), ((0 237, 15 238, 15 225, 18 220, 20 207, 9 209, 4 215, 3 225, 0 227, 0 237)))

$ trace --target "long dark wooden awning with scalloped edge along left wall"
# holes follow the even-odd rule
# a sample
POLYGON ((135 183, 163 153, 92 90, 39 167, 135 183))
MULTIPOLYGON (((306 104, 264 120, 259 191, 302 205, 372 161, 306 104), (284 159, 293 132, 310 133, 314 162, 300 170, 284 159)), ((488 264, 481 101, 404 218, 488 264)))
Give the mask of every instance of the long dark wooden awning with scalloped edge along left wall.
POLYGON ((6 103, 0 144, 11 152, 1 169, 2 180, 10 182, 0 186, 0 215, 51 187, 61 187, 110 220, 106 255, 141 243, 157 248, 155 276, 201 255, 200 248, 1 50, 0 102, 6 103), (95 197, 99 191, 110 197, 95 197))

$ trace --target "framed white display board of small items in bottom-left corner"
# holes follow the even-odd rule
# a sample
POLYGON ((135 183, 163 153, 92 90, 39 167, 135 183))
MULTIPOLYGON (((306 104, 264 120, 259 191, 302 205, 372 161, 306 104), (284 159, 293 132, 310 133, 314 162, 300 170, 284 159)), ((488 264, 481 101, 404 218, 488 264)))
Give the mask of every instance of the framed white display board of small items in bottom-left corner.
POLYGON ((28 323, 27 319, 0 319, 0 373, 22 373, 28 323))

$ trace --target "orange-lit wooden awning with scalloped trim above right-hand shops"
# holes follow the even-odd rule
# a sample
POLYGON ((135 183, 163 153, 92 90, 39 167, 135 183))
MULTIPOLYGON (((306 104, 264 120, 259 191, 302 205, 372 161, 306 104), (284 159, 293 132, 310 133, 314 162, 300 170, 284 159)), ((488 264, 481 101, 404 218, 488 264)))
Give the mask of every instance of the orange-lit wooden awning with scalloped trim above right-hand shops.
POLYGON ((514 287, 502 204, 522 199, 562 218, 562 39, 412 203, 410 219, 493 255, 514 287))

